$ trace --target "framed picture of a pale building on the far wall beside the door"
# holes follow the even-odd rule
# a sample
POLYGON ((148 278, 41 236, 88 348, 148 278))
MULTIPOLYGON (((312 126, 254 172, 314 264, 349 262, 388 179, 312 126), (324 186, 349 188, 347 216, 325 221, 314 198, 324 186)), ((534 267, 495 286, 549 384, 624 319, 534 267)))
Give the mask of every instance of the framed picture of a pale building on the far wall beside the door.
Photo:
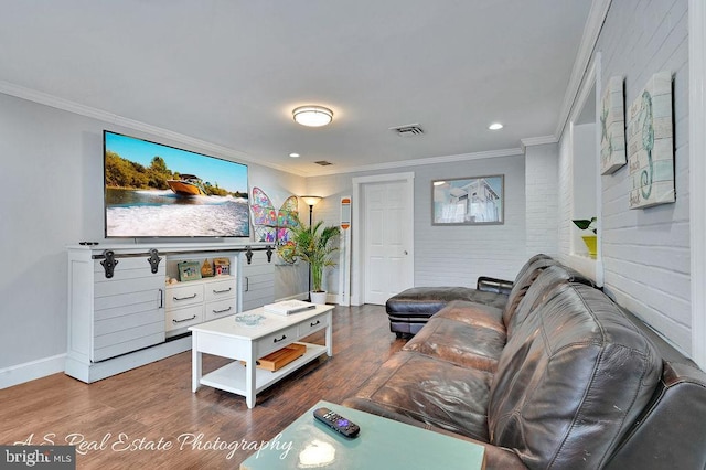
POLYGON ((504 223, 504 175, 453 178, 431 182, 432 225, 504 223))

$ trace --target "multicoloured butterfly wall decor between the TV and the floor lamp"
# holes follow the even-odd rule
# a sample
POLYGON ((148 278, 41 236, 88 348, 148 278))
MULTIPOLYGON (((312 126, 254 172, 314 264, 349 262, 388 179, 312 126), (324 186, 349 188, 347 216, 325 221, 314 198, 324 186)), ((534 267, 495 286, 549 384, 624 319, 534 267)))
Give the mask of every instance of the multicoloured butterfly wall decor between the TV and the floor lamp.
POLYGON ((256 242, 269 242, 276 246, 286 245, 289 242, 289 228, 297 225, 299 215, 299 200, 297 196, 289 196, 285 200, 279 210, 265 191, 253 188, 253 225, 255 227, 256 242))

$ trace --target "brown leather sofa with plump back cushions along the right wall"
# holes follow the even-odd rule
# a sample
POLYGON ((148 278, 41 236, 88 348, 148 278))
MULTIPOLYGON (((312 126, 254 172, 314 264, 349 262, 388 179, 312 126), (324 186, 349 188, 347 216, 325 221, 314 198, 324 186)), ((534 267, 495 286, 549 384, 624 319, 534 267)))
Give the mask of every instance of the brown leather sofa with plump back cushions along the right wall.
POLYGON ((344 405, 474 441, 490 469, 706 468, 692 361, 547 256, 496 296, 447 299, 344 405))

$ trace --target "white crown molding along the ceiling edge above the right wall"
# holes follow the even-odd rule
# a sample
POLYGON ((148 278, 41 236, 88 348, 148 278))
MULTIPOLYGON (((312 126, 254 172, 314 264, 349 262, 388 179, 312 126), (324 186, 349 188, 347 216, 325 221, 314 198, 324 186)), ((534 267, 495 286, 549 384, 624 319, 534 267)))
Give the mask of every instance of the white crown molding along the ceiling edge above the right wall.
POLYGON ((564 94, 564 102, 561 104, 556 131, 554 132, 554 135, 557 136, 557 141, 558 137, 564 132, 569 115, 571 114, 571 109, 576 105, 579 88, 581 87, 584 77, 586 76, 589 64, 591 63, 591 56, 593 55, 598 36, 603 28, 603 22, 606 21, 606 15, 608 15, 611 2, 612 0, 593 0, 591 3, 588 20, 584 26, 581 43, 578 47, 578 53, 576 54, 576 61, 574 61, 571 77, 569 78, 569 84, 566 87, 566 93, 564 94))

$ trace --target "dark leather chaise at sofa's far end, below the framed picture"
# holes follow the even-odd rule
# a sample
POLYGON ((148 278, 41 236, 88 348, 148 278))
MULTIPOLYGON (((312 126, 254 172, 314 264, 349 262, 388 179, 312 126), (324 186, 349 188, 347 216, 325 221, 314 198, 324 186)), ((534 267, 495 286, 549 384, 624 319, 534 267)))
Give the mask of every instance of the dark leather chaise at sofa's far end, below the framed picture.
MULTIPOLYGON (((500 281, 493 279, 494 281, 500 281)), ((470 287, 413 287, 387 299, 385 310, 389 317, 389 331, 397 338, 411 337, 424 327, 429 317, 452 300, 466 300, 502 309, 507 301, 511 281, 496 291, 470 287)))

